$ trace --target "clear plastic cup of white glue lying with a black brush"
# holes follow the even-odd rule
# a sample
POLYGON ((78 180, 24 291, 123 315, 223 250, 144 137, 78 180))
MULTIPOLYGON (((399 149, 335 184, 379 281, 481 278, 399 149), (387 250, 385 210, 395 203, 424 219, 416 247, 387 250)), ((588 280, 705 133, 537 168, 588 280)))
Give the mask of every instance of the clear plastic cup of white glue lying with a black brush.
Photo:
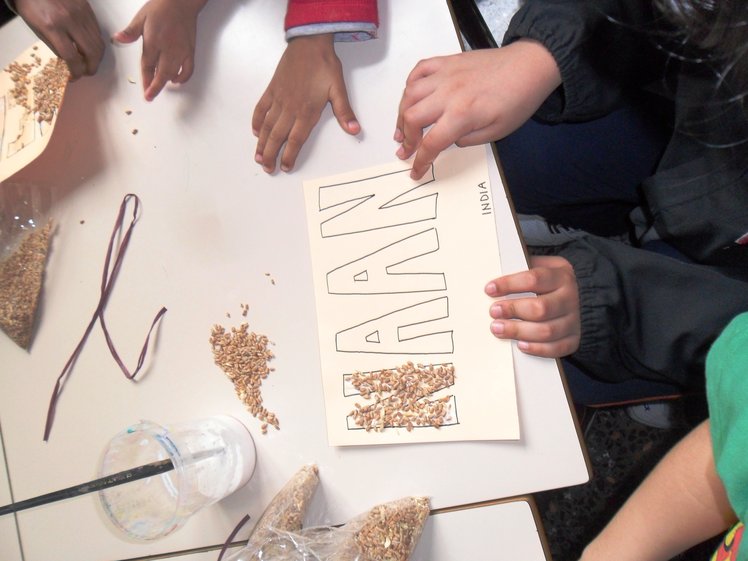
POLYGON ((117 434, 105 449, 100 477, 156 462, 173 469, 99 492, 104 511, 131 539, 145 541, 181 528, 198 510, 249 481, 255 447, 234 417, 158 425, 140 421, 117 434))

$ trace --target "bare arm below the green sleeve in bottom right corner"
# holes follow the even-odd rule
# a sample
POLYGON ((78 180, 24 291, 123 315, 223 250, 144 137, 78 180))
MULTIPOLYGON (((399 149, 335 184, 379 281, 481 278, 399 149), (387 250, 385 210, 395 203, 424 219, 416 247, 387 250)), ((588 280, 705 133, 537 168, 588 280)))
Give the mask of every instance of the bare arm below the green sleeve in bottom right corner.
POLYGON ((734 522, 705 421, 657 464, 582 561, 666 561, 734 522))

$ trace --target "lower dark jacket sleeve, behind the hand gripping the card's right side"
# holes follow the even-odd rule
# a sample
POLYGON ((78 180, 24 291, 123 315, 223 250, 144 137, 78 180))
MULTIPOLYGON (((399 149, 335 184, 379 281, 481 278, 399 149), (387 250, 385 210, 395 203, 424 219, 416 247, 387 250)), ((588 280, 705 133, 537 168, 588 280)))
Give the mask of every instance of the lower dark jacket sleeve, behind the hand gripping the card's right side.
POLYGON ((582 338, 570 359, 599 379, 703 389, 709 347, 748 311, 748 283, 703 265, 594 236, 557 253, 579 285, 582 338))

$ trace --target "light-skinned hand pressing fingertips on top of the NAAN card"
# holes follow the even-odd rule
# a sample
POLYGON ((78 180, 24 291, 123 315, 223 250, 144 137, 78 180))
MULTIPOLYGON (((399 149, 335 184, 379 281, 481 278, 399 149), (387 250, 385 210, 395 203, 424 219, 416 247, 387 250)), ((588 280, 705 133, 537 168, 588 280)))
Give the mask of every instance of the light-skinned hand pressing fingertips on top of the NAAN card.
POLYGON ((527 39, 423 60, 400 101, 397 156, 406 160, 417 151, 411 177, 420 179, 452 144, 482 144, 519 128, 560 84, 551 53, 527 39))

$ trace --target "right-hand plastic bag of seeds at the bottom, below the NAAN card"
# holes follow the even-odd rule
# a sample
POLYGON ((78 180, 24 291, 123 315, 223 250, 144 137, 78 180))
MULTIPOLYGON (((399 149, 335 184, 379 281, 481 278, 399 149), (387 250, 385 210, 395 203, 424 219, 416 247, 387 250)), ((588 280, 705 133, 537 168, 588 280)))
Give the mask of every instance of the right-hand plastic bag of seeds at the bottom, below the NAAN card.
POLYGON ((250 539, 231 561, 408 561, 429 510, 428 498, 404 497, 338 527, 272 529, 262 543, 250 539))

